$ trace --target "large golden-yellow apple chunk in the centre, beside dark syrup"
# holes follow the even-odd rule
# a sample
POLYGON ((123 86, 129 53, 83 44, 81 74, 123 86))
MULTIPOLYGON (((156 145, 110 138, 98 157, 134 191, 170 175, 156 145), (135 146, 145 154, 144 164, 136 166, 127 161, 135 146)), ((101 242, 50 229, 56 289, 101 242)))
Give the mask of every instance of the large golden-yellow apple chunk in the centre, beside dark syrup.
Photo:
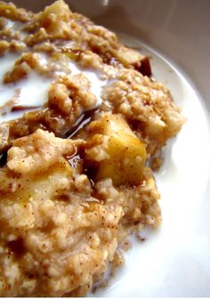
POLYGON ((117 185, 141 182, 147 158, 144 144, 120 115, 104 114, 96 122, 100 133, 108 137, 107 158, 98 162, 96 179, 112 178, 117 185))

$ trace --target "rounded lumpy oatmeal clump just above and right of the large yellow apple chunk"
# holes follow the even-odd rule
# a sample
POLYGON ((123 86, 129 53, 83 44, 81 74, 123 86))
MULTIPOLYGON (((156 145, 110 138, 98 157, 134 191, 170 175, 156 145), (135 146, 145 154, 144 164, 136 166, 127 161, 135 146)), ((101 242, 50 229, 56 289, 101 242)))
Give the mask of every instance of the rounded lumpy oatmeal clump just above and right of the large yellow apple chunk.
POLYGON ((117 78, 104 91, 104 109, 123 114, 154 155, 181 130, 181 110, 165 85, 130 69, 120 70, 117 78))

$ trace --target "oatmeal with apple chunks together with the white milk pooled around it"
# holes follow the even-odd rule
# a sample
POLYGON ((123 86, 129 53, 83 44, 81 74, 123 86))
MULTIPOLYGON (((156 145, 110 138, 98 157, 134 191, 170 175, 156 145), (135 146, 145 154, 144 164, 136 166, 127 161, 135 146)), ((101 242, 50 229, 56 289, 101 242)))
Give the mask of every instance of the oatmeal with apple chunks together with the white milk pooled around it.
POLYGON ((73 9, 0 4, 0 294, 198 294, 182 279, 208 240, 189 234, 207 177, 206 146, 192 190, 198 93, 143 39, 73 9))

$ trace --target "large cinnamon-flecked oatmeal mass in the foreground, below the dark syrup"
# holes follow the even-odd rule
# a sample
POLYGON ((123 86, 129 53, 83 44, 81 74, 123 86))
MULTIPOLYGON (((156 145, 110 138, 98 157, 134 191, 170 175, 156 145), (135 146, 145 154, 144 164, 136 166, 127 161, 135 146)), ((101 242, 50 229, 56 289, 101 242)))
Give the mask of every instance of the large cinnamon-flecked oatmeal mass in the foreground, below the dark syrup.
POLYGON ((134 189, 111 178, 93 187, 65 158, 81 147, 73 142, 39 129, 8 151, 0 173, 1 295, 85 295, 129 231, 160 222, 149 168, 134 189))

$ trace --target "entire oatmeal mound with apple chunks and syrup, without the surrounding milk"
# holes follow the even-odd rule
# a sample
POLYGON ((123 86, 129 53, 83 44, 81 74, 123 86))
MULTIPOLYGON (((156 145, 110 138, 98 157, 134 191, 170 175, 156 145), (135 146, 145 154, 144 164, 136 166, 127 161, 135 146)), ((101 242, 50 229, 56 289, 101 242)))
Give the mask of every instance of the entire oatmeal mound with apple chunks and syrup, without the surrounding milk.
POLYGON ((85 295, 127 234, 159 225, 145 160, 183 118, 147 58, 63 2, 0 15, 0 294, 85 295))

